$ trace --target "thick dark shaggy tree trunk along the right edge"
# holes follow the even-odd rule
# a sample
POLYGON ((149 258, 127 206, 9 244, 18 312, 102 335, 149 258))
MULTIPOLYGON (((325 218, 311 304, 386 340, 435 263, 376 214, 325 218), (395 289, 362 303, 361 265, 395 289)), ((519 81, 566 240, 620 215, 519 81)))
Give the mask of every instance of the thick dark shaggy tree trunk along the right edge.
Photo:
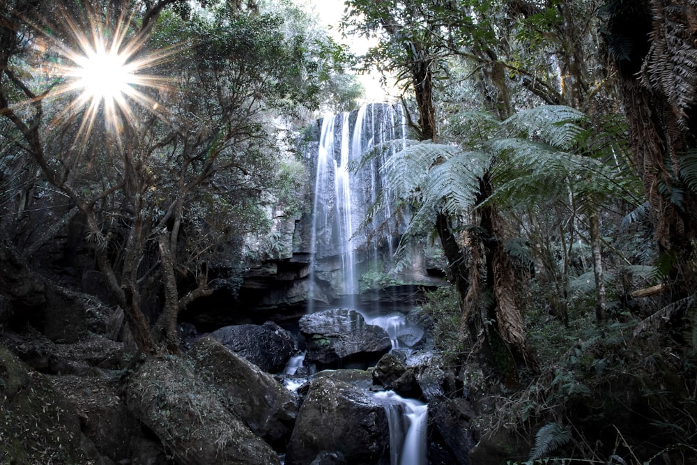
POLYGON ((611 0, 601 13, 672 303, 696 285, 697 3, 611 0))

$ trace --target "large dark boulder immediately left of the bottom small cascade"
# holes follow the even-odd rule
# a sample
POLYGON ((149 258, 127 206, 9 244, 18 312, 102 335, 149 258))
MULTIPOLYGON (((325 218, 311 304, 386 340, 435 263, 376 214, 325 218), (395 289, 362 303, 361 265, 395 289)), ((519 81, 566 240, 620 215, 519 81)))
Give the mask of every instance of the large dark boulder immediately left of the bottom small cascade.
POLYGON ((326 463, 327 453, 352 465, 388 465, 389 445, 384 407, 355 386, 321 376, 300 408, 286 465, 326 463))

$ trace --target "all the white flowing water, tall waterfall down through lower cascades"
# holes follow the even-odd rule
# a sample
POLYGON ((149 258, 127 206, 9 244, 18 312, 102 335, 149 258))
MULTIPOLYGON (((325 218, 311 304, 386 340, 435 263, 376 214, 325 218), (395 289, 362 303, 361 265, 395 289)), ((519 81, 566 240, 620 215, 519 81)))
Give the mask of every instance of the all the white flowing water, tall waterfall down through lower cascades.
MULTIPOLYGON (((392 218, 390 186, 383 180, 381 167, 395 151, 404 148, 406 118, 401 109, 390 105, 365 105, 354 114, 328 115, 322 121, 317 154, 310 249, 308 312, 316 303, 338 302, 358 310, 368 324, 381 326, 399 348, 399 335, 407 326, 404 314, 395 308, 357 309, 359 276, 373 273, 385 277, 399 237, 392 218), (387 148, 386 142, 397 141, 387 148), (363 160, 378 146, 382 155, 363 160), (351 169, 361 165, 360 169, 351 169), (379 201, 379 202, 378 202, 379 201), (381 208, 376 210, 374 205, 381 208), (372 224, 362 228, 369 208, 372 224), (391 220, 391 221, 390 221, 391 220), (372 234, 366 234, 372 229, 372 234), (360 274, 359 274, 360 273, 360 274)), ((391 299, 393 303, 397 298, 391 299)), ((292 369, 289 365, 289 371, 292 369)), ((291 389, 298 381, 287 381, 291 389)), ((390 425, 392 465, 426 465, 428 407, 395 392, 374 393, 385 406, 390 425)))

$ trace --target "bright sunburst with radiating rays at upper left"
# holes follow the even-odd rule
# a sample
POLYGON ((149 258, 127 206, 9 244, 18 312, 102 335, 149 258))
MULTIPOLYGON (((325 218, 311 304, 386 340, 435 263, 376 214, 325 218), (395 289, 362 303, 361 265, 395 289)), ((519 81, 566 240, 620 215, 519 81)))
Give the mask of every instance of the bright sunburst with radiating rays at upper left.
POLYGON ((56 80, 47 98, 68 99, 52 125, 79 121, 73 148, 84 148, 100 123, 121 145, 124 128, 144 118, 141 110, 162 116, 156 98, 169 79, 148 71, 170 59, 174 48, 146 49, 147 34, 138 29, 134 17, 121 13, 111 20, 110 13, 87 10, 75 18, 63 11, 61 29, 45 28, 59 34, 42 32, 55 56, 51 73, 56 80))

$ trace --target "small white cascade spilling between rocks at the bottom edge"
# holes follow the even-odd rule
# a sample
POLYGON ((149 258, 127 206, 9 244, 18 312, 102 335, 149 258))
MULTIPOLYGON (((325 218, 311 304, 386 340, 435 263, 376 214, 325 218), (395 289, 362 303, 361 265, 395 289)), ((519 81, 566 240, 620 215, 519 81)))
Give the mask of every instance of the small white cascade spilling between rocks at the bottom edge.
POLYGON ((428 405, 393 391, 375 392, 390 426, 390 465, 426 465, 428 405))

